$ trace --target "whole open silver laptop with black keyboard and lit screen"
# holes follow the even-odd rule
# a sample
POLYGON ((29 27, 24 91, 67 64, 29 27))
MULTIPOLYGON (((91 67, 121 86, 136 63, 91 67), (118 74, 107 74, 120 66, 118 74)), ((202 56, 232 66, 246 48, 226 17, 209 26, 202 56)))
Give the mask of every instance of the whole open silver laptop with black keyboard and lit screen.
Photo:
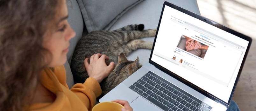
POLYGON ((252 38, 164 2, 149 63, 99 101, 134 111, 225 111, 252 38))

